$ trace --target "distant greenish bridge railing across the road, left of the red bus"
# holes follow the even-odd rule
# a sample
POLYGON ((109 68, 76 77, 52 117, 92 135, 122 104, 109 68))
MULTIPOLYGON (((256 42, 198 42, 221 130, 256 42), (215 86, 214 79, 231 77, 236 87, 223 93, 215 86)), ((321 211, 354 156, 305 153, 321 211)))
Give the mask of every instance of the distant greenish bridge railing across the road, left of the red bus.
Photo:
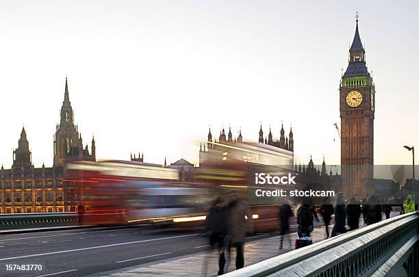
POLYGON ((0 230, 77 224, 77 213, 14 213, 0 215, 0 230))

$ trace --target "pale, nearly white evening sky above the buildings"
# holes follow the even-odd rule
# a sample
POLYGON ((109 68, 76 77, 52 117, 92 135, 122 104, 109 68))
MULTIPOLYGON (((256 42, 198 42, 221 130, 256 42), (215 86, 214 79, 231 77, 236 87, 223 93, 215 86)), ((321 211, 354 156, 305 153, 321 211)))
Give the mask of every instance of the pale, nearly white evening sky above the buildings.
MULTIPOLYGON (((75 122, 99 159, 198 163, 208 127, 294 132, 296 161, 340 163, 341 68, 359 12, 376 86, 375 164, 419 147, 415 1, 1 1, 0 163, 23 124, 35 166, 53 162, 68 76, 75 122)), ((227 131, 227 130, 226 130, 227 131)))

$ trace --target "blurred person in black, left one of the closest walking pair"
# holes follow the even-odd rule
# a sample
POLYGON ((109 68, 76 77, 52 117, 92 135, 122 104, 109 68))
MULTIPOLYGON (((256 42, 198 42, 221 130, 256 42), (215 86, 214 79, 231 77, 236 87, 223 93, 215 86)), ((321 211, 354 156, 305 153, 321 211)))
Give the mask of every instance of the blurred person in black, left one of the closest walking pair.
MULTIPOLYGON (((210 240, 212 249, 218 245, 218 275, 224 274, 225 267, 225 245, 224 240, 227 235, 227 211, 225 209, 225 198, 216 196, 208 210, 205 229, 210 240)), ((206 268, 205 268, 206 274, 206 268)))

